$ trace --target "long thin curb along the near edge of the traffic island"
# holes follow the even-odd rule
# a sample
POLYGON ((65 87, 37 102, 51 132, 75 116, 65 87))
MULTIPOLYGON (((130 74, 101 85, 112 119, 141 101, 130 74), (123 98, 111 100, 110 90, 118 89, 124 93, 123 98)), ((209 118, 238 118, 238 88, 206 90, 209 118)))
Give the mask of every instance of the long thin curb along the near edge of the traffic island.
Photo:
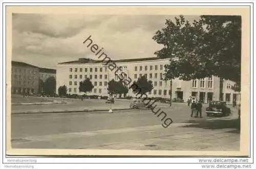
MULTIPOLYGON (((132 108, 116 108, 116 109, 112 109, 114 110, 130 110, 132 108)), ((96 112, 99 113, 97 111, 109 111, 109 109, 92 109, 92 110, 59 110, 59 111, 34 111, 34 112, 14 112, 11 115, 23 115, 23 114, 54 114, 54 113, 70 113, 70 112, 96 112)))

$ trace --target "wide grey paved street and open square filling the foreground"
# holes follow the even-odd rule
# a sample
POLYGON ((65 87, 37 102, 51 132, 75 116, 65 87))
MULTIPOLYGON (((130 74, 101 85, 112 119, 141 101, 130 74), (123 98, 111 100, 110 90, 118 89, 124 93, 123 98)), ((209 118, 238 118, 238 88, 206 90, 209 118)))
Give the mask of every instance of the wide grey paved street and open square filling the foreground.
MULTIPOLYGON (((60 106, 85 103, 74 102, 60 106)), ((92 104, 97 106, 99 102, 92 101, 92 104)), ((120 101, 123 105, 129 103, 120 101)), ((31 109, 57 105, 44 106, 30 105, 31 109)), ((14 106, 16 109, 24 107, 14 106)), ((236 119, 214 119, 205 117, 204 112, 202 119, 190 118, 190 109, 185 104, 173 104, 172 107, 161 109, 174 121, 168 128, 162 127, 161 118, 151 110, 117 110, 113 114, 100 111, 12 114, 12 146, 46 149, 239 150, 239 122, 236 119)))

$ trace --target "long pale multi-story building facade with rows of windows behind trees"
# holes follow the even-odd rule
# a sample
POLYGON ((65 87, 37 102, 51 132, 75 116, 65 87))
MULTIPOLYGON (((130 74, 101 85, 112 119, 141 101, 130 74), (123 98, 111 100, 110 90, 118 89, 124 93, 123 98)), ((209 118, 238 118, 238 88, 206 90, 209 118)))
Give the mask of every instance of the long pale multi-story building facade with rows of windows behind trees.
MULTIPOLYGON (((124 73, 124 78, 131 78, 132 82, 145 75, 148 80, 153 81, 154 89, 147 93, 148 97, 170 97, 170 81, 163 80, 164 65, 169 64, 169 59, 143 58, 109 61, 108 64, 101 60, 91 60, 80 58, 77 61, 58 63, 56 74, 56 89, 66 85, 68 94, 83 95, 79 92, 79 82, 85 78, 90 78, 94 89, 90 95, 108 95, 108 81, 114 79, 118 81, 118 75, 124 73), (112 64, 112 65, 111 65, 112 64), (115 69, 112 71, 113 67, 115 69), (118 75, 116 75, 118 74, 118 75)), ((207 77, 203 79, 183 81, 180 79, 172 80, 172 98, 179 98, 186 101, 190 96, 203 100, 220 100, 221 93, 226 91, 220 88, 219 77, 207 77)), ((226 93, 225 93, 226 94, 226 93)), ((129 91, 127 96, 135 97, 136 94, 129 91)), ((226 95, 229 96, 229 95, 226 95)), ((232 95, 234 97, 234 95, 232 95)), ((227 98, 227 97, 226 97, 227 98)), ((231 102, 231 97, 227 101, 231 102)))

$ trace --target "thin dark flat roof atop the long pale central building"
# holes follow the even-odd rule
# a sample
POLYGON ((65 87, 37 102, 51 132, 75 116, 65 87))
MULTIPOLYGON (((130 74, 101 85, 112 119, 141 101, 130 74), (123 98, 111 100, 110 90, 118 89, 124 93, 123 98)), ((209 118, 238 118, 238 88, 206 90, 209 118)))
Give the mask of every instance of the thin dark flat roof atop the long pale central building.
MULTIPOLYGON (((167 60, 170 58, 160 59, 158 57, 153 58, 136 58, 136 59, 121 59, 121 60, 112 60, 115 63, 121 62, 141 62, 141 61, 155 61, 155 60, 167 60)), ((77 61, 70 61, 70 62, 62 62, 58 64, 94 64, 94 63, 103 63, 102 60, 93 60, 88 58, 80 58, 77 61)))

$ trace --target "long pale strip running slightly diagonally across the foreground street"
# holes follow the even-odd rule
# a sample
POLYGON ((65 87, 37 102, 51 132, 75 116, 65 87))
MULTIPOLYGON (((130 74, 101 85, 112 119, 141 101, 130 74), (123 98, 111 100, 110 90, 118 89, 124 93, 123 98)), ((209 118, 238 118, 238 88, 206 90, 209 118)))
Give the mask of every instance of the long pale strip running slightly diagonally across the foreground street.
MULTIPOLYGON (((174 123, 172 127, 180 127, 193 123, 174 123)), ((24 138, 12 138, 12 140, 27 140, 23 142, 13 143, 25 144, 33 142, 50 142, 55 139, 67 139, 67 138, 77 138, 81 136, 95 136, 95 135, 104 135, 104 134, 118 134, 126 132, 138 132, 138 131, 148 131, 163 128, 161 124, 159 125, 150 125, 150 126, 139 126, 139 127, 129 127, 121 129, 106 129, 106 130, 95 130, 95 131, 82 131, 82 132, 71 132, 71 133, 61 133, 61 134, 49 134, 49 135, 37 135, 37 136, 28 136, 24 138)))

